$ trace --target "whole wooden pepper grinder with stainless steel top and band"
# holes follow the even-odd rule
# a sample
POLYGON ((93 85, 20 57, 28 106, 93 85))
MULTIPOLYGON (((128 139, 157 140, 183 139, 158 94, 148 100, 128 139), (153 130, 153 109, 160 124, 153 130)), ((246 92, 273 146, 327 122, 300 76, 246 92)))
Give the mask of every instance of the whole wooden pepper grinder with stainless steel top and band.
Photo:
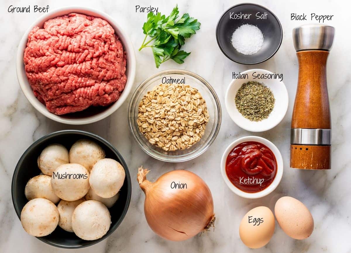
POLYGON ((326 63, 334 27, 303 25, 293 29, 299 77, 291 119, 290 167, 331 167, 331 119, 326 63))

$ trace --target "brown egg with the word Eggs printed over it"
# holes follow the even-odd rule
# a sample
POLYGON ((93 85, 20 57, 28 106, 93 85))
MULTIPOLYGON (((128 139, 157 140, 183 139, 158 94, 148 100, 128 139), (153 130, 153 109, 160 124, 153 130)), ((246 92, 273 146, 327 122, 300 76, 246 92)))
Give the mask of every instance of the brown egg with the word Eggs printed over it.
POLYGON ((271 240, 274 227, 274 215, 268 207, 253 208, 241 220, 240 239, 249 248, 263 247, 271 240))

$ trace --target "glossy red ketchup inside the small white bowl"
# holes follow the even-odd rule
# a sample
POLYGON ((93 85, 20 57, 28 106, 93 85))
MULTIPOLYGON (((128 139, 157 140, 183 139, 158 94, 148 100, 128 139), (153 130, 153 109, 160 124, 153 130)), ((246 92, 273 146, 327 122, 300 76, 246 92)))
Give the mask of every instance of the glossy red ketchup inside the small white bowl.
POLYGON ((277 173, 273 152, 259 142, 243 142, 227 156, 225 171, 234 186, 254 193, 266 189, 277 173))

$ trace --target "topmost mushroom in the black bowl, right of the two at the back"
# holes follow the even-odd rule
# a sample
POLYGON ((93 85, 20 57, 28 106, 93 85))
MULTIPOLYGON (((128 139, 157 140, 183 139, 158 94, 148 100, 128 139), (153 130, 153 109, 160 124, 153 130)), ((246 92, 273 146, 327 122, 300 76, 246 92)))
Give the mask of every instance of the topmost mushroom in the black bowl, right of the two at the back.
POLYGON ((76 141, 69 150, 69 161, 84 166, 89 172, 94 164, 105 158, 105 151, 88 139, 76 141))

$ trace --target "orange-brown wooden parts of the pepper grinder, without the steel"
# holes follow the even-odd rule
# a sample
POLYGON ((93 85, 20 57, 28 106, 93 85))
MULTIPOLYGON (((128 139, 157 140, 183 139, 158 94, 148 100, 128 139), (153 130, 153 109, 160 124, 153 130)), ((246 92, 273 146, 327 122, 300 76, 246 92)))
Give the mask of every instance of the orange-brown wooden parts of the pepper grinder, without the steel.
MULTIPOLYGON (((331 129, 326 82, 328 55, 329 52, 325 50, 297 52, 299 77, 291 120, 292 129, 331 129)), ((290 167, 330 169, 331 145, 294 144, 292 139, 290 167)))

